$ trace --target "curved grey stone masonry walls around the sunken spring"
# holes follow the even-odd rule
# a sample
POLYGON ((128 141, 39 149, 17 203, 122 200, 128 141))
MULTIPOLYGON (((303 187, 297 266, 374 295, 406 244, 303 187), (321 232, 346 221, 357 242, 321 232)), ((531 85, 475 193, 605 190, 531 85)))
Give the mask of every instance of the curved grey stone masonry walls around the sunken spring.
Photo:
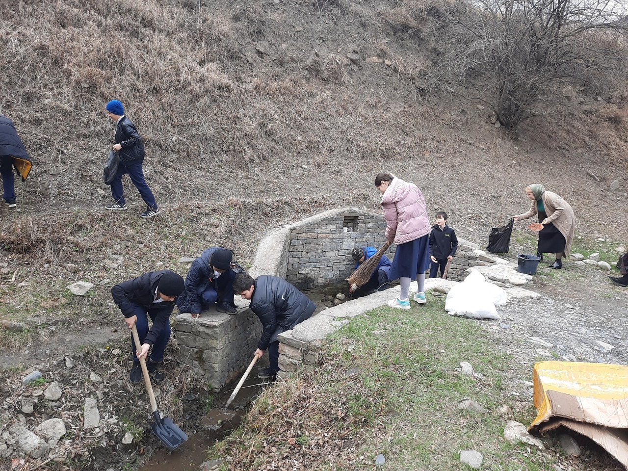
MULTIPOLYGON (((382 215, 367 214, 358 208, 329 210, 269 232, 259 244, 249 274, 253 278, 261 274, 279 276, 300 290, 334 284, 337 288, 346 284, 344 279, 354 269, 351 250, 367 245, 381 247, 385 243, 385 230, 382 215)), ((458 252, 450 264, 448 279, 426 280, 426 290, 435 283, 462 281, 471 269, 479 269, 501 286, 519 286, 532 278, 517 276, 506 261, 480 250, 477 244, 458 240, 458 252)), ((394 248, 386 252, 391 259, 394 248)), ((388 291, 399 291, 399 287, 388 291)), ((328 333, 344 325, 348 318, 385 304, 390 297, 391 293, 384 291, 323 310, 294 330, 280 334, 279 366, 283 371, 294 371, 302 363, 316 364, 328 333)), ((261 335, 261 324, 248 309, 248 301, 236 296, 236 304, 239 311, 236 316, 212 308, 201 313, 198 320, 190 314, 180 314, 173 323, 180 358, 214 391, 237 379, 251 361, 261 335)))

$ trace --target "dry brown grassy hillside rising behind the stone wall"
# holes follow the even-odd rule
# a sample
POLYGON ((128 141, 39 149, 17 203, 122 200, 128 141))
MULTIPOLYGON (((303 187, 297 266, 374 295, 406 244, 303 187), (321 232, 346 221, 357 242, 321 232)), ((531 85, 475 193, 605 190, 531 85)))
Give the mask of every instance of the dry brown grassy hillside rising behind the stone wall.
MULTIPOLYGON (((616 259, 628 225, 625 71, 612 87, 575 80, 573 95, 558 90, 560 112, 497 128, 484 102, 424 80, 450 39, 441 13, 421 0, 0 2, 0 113, 34 163, 16 184, 19 212, 0 207, 0 317, 28 326, 0 330, 4 384, 46 364, 85 391, 90 371, 109 371, 124 391, 126 358, 98 348, 126 348, 112 284, 152 269, 185 274, 180 257, 209 246, 231 247, 246 266, 269 229, 329 208, 381 212, 379 171, 416 183, 430 212, 445 210, 459 237, 482 246, 490 227, 527 210, 526 185, 543 183, 575 210, 575 249, 616 259), (114 136, 104 107, 114 98, 146 145, 144 174, 162 210, 148 221, 126 177, 129 211, 104 209, 114 136), (90 296, 68 295, 78 279, 95 284, 90 296), (66 354, 80 367, 65 371, 66 354)), ((511 255, 533 250, 524 227, 511 255)), ((593 269, 544 273, 537 287, 600 318, 625 305, 593 269)), ((129 404, 126 419, 139 422, 143 411, 129 404)), ((181 403, 165 408, 183 415, 181 403)), ((82 440, 78 468, 122 455, 138 465, 135 450, 112 458, 99 442, 94 456, 82 440)))

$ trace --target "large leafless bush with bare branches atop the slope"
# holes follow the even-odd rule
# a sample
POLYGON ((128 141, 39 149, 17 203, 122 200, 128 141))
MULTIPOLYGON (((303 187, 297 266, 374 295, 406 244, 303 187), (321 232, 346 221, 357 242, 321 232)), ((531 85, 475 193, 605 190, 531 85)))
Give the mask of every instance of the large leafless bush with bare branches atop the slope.
POLYGON ((485 100, 507 129, 556 111, 559 91, 610 92, 625 77, 621 4, 607 0, 464 0, 433 23, 445 40, 432 84, 485 100))

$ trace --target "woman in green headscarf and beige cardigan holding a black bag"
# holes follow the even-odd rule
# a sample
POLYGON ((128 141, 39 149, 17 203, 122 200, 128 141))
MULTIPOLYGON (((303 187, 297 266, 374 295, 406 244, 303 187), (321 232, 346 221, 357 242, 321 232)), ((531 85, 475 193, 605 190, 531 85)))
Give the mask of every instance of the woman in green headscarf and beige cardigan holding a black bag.
POLYGON ((539 232, 537 255, 543 261, 543 253, 555 253, 556 261, 549 268, 560 269, 563 266, 561 259, 569 255, 573 242, 573 230, 576 227, 573 209, 556 193, 546 191, 543 185, 526 187, 526 196, 532 200, 530 210, 514 216, 514 220, 538 215, 544 227, 539 232))

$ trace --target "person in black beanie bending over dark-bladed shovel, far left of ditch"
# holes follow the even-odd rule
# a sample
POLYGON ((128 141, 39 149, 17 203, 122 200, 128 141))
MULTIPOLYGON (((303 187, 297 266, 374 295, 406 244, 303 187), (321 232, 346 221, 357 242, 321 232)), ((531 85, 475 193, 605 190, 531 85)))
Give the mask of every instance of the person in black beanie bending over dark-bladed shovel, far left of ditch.
POLYGON ((153 381, 163 381, 163 372, 158 367, 163 362, 163 354, 170 339, 170 315, 175 308, 175 300, 183 292, 184 283, 180 274, 170 270, 151 271, 138 278, 129 279, 111 288, 114 302, 124 314, 129 329, 138 329, 142 345, 135 345, 131 336, 133 369, 129 374, 131 382, 142 379, 139 358, 146 358, 153 347, 147 367, 153 381), (153 325, 148 328, 148 318, 153 325))

